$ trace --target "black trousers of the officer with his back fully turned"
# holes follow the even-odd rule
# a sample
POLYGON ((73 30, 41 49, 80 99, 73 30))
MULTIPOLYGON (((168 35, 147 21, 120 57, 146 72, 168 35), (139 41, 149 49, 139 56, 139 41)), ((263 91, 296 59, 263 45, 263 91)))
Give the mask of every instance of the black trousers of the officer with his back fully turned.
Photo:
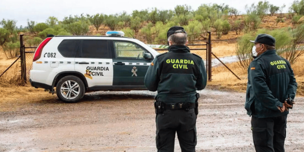
POLYGON ((156 147, 158 152, 173 152, 177 133, 182 152, 195 152, 196 115, 194 109, 165 110, 156 116, 156 147))

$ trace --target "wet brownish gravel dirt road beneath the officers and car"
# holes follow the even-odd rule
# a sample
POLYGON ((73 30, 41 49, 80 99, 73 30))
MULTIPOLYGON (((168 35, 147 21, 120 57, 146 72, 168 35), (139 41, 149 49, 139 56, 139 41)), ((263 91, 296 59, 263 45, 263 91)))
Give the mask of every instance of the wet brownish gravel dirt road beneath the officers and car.
MULTIPOLYGON (((199 93, 196 151, 254 151, 245 93, 210 89, 199 93)), ((72 104, 54 95, 0 112, 0 151, 155 152, 154 95, 148 91, 96 92, 72 104)), ((285 150, 303 152, 304 98, 295 101, 288 115, 285 150)), ((177 139, 175 151, 180 151, 177 139)))

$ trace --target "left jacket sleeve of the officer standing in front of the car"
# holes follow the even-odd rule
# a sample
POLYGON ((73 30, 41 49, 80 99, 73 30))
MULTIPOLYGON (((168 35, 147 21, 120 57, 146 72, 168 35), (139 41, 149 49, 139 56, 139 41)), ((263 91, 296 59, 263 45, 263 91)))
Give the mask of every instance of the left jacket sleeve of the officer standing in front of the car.
POLYGON ((160 68, 157 58, 154 58, 148 67, 144 84, 149 91, 157 91, 158 82, 160 81, 160 68))

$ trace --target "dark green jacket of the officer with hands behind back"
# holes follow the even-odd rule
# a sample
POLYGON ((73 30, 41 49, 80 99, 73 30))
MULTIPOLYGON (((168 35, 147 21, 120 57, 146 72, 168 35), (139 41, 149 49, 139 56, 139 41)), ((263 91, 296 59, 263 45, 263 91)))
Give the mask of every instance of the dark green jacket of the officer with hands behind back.
POLYGON ((267 50, 255 58, 248 68, 245 109, 249 116, 258 118, 277 117, 288 98, 295 98, 297 83, 289 62, 278 56, 275 50, 267 50))

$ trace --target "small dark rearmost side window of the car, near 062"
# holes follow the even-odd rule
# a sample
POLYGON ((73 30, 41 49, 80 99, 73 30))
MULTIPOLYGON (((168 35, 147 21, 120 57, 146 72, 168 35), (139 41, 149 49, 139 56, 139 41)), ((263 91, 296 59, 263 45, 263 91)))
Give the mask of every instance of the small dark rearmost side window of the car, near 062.
POLYGON ((75 57, 78 45, 79 40, 63 40, 59 44, 58 50, 64 57, 75 57))

